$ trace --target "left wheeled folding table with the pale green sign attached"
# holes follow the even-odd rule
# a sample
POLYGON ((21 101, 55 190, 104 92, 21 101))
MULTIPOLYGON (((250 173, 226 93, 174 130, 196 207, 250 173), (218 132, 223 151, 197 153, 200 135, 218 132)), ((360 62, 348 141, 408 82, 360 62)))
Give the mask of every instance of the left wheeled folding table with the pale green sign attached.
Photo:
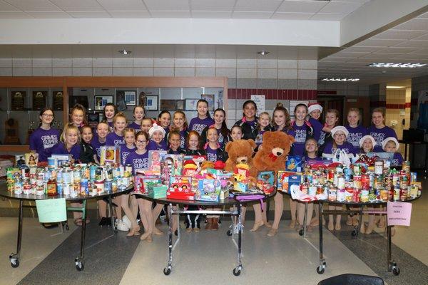
MULTIPOLYGON (((76 264, 76 269, 78 271, 82 271, 84 268, 84 249, 85 249, 85 234, 86 234, 86 202, 89 199, 102 199, 104 197, 108 198, 108 207, 111 212, 111 224, 113 232, 117 232, 116 227, 114 226, 114 218, 113 218, 113 206, 111 202, 111 197, 127 194, 133 190, 133 186, 130 186, 123 190, 118 190, 117 192, 103 192, 99 195, 95 196, 85 196, 85 197, 70 197, 69 195, 56 195, 56 196, 48 196, 48 195, 34 195, 34 194, 21 194, 15 195, 13 192, 9 192, 6 187, 5 182, 0 183, 0 196, 6 199, 16 199, 19 200, 19 215, 18 215, 18 238, 16 241, 16 253, 12 253, 9 255, 9 260, 11 261, 11 266, 16 268, 19 266, 19 259, 21 257, 21 243, 22 243, 22 218, 23 218, 23 209, 24 207, 34 208, 34 205, 24 205, 24 202, 31 202, 41 199, 60 199, 65 198, 68 202, 82 202, 82 207, 67 207, 67 211, 71 212, 82 212, 82 226, 81 226, 81 249, 80 254, 74 262, 76 264)), ((67 225, 68 227, 68 225, 67 225)))

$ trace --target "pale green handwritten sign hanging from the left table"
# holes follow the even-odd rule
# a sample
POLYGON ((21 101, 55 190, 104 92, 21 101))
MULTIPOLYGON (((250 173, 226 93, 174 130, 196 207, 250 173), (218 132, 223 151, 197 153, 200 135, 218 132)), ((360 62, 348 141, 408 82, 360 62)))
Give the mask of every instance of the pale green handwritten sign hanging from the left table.
POLYGON ((66 199, 36 200, 39 222, 63 222, 67 220, 66 199))

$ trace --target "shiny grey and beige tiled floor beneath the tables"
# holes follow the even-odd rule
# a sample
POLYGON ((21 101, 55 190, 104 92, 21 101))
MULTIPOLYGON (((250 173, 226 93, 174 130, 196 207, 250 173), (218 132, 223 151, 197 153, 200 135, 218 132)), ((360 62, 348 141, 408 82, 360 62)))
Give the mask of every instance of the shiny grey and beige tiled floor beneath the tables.
MULTIPOLYGON (((424 186, 428 189, 427 181, 424 186)), ((281 222, 280 231, 272 238, 265 236, 267 229, 249 232, 253 221, 248 221, 243 234, 243 271, 233 276, 237 253, 235 242, 225 234, 229 218, 223 219, 218 232, 182 231, 169 276, 162 272, 168 257, 166 235, 153 237, 151 244, 140 242, 138 237, 127 238, 125 232, 112 234, 109 228, 99 228, 96 217, 91 217, 85 269, 79 272, 73 259, 79 251, 80 230, 71 225, 69 232, 58 234, 59 229, 44 229, 36 219, 26 218, 21 265, 12 269, 8 256, 16 247, 16 217, 4 217, 6 210, 2 209, 0 284, 282 284, 284 280, 317 284, 329 276, 351 272, 382 276, 389 285, 428 284, 424 277, 428 276, 426 196, 413 203, 412 226, 399 227, 392 239, 392 254, 401 269, 399 276, 386 271, 386 239, 382 233, 355 240, 345 224, 338 233, 324 229, 327 269, 319 275, 315 271, 317 230, 304 239, 287 227, 288 221, 281 222)), ((1 202, 1 207, 6 204, 1 202)), ((285 216, 288 218, 289 213, 285 216)), ((166 231, 166 226, 162 229, 166 231)))

